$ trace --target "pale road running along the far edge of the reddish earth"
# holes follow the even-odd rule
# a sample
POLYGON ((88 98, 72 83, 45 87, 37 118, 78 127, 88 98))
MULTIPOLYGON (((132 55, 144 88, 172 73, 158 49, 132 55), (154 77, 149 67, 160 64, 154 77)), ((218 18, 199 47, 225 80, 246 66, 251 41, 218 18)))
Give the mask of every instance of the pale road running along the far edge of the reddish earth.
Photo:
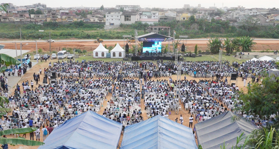
MULTIPOLYGON (((177 39, 176 39, 177 40, 177 39)), ((181 39, 182 40, 182 39, 181 39)), ((185 40, 185 39, 184 39, 185 40)), ((206 38, 202 38, 202 39, 187 39, 189 41, 199 41, 199 40, 209 40, 206 38)), ((266 39, 266 38, 255 38, 255 40, 279 40, 279 39, 266 39)), ((55 42, 89 42, 92 41, 93 39, 81 39, 81 40, 55 40, 55 42)), ((123 39, 104 39, 104 41, 123 41, 123 39)), ((26 42, 33 42, 35 43, 34 40, 9 40, 9 41, 0 41, 0 43, 26 43, 26 42)), ((37 42, 46 42, 46 40, 37 40, 37 42)), ((47 42, 46 42, 47 43, 47 42)))

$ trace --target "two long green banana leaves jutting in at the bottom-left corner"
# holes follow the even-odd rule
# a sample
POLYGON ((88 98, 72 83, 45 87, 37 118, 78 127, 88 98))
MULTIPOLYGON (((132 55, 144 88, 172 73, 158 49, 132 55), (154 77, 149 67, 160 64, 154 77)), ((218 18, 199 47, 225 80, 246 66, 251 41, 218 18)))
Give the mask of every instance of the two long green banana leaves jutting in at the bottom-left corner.
MULTIPOLYGON (((33 131, 36 131, 36 127, 29 127, 29 128, 17 128, 17 129, 8 129, 0 131, 0 136, 8 135, 8 134, 27 134, 33 131)), ((28 146, 39 146, 44 145, 45 143, 33 140, 26 140, 25 138, 18 137, 18 138, 3 138, 0 137, 0 144, 13 144, 13 145, 28 145, 28 146)))

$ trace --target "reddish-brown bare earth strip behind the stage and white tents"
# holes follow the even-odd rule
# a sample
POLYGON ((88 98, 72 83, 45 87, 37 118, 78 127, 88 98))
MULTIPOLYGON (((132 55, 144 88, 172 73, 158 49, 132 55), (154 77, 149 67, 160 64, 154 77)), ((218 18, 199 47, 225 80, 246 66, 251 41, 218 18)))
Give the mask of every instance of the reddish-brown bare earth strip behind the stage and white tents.
MULTIPOLYGON (((187 50, 188 51, 194 51, 194 47, 197 44, 198 45, 198 50, 201 51, 206 51, 207 49, 207 40, 188 40, 186 42, 186 40, 184 41, 180 41, 180 43, 184 43, 187 50)), ((270 51, 273 50, 277 50, 279 49, 279 40, 254 40, 254 42, 256 42, 256 44, 254 45, 254 51, 266 51, 266 49, 269 49, 270 51)), ((113 46, 119 43, 120 46, 124 46, 124 41, 104 41, 102 44, 103 45, 107 45, 107 47, 109 46, 113 46)), ((5 45, 5 49, 15 49, 15 44, 14 43, 1 43, 0 44, 5 45)), ((25 45, 26 43, 22 43, 23 45, 25 45)), ((93 51, 94 49, 96 49, 98 47, 100 43, 93 43, 92 42, 82 42, 82 41, 72 41, 72 42, 54 42, 51 43, 51 50, 52 51, 60 51, 62 50, 62 48, 76 48, 76 49, 81 49, 81 50, 87 50, 89 51, 93 51)), ((126 43, 125 43, 126 44, 126 43)), ((135 43, 131 43, 131 45, 133 45, 135 43)), ((168 42, 162 42, 162 45, 166 45, 168 44, 168 42)), ((35 43, 29 43, 28 46, 23 46, 22 49, 23 50, 31 50, 35 51, 36 49, 36 45, 35 43), (33 48, 32 48, 33 47, 33 48)), ((17 44, 17 49, 20 49, 20 44, 17 44)), ((49 43, 47 42, 38 42, 38 49, 42 49, 43 52, 49 52, 49 43)))

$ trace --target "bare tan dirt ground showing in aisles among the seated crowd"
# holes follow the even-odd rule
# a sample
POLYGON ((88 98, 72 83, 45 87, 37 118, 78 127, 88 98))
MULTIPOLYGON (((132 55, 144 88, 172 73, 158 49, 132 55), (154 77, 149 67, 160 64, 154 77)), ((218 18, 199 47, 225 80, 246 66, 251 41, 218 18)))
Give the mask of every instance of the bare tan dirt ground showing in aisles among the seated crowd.
MULTIPOLYGON (((22 81, 26 81, 26 80, 33 80, 33 73, 35 72, 36 74, 39 73, 39 69, 41 68, 42 70, 44 70, 44 68, 48 67, 48 62, 57 62, 58 60, 55 59, 55 60, 50 60, 50 61, 47 61, 47 62, 39 62, 37 65, 33 66, 31 68, 31 70, 27 71, 26 74, 23 75, 23 77, 20 79, 19 82, 22 82, 22 81)), ((204 78, 192 78, 191 76, 187 76, 187 79, 188 80, 192 80, 192 79, 195 79, 197 81, 199 81, 200 79, 204 79, 204 78)), ((184 75, 182 75, 182 78, 184 77, 184 75)), ((162 77, 160 79, 166 79, 168 80, 167 77, 162 77)), ((177 76, 176 75, 172 75, 172 79, 173 80, 176 80, 177 79, 177 76)), ((211 78, 207 78, 207 79, 211 79, 211 78)), ((225 78, 224 78, 225 79, 225 78)), ((224 80, 223 79, 223 80, 224 80)), ((156 79, 157 80, 157 79, 156 79)), ((228 77, 228 80, 230 80, 230 77, 228 77)), ((251 81, 250 78, 248 78, 248 80, 246 80, 246 84, 251 81)), ((39 81, 39 84, 42 84, 42 78, 41 78, 41 81, 39 81)), ((15 85, 16 86, 16 85, 15 85)), ((11 95, 14 95, 14 91, 15 90, 15 86, 10 90, 11 91, 11 95)), ((247 90, 246 87, 243 87, 243 81, 241 81, 241 78, 238 78, 238 81, 237 81, 237 86, 239 88, 243 88, 243 90, 247 90)), ((34 85, 34 88, 35 87, 38 87, 38 85, 34 85)), ((9 95, 9 96, 11 96, 9 95)), ((107 96, 106 99, 110 99, 111 96, 107 96)), ((181 103, 180 103, 181 104, 181 103)), ((182 117, 184 118, 184 122, 183 122, 183 125, 184 126, 189 126, 189 117, 191 116, 190 114, 188 114, 188 111, 185 111, 184 109, 184 105, 181 104, 182 106, 182 110, 183 111, 179 111, 179 115, 176 115, 174 113, 174 111, 171 111, 171 114, 169 115, 169 119, 172 120, 172 121, 175 121, 175 118, 176 117, 180 117, 180 114, 182 114, 182 117)), ((104 109, 107 107, 107 102, 104 102, 104 105, 103 107, 101 107, 101 110, 100 111, 104 111, 104 109)), ((147 115, 146 115, 146 110, 144 110, 144 100, 141 100, 141 109, 142 109, 142 116, 144 118, 144 120, 147 120, 147 115)), ((11 114, 11 113, 9 113, 11 114)), ((102 114, 101 112, 99 114, 102 114)), ((193 121, 193 127, 192 129, 194 128, 194 124, 196 124, 197 121, 193 121)), ((22 137, 22 134, 20 134, 20 136, 22 137)), ((14 135, 7 135, 7 138, 14 138, 15 136, 14 135)), ((26 139, 29 139, 29 134, 26 134, 26 139)), ((123 134, 121 134, 121 137, 120 137, 120 140, 119 140, 119 146, 121 145, 121 142, 122 142, 122 138, 123 138, 123 134)), ((41 139, 40 141, 42 142, 42 130, 41 130, 41 139)), ((197 142, 197 140, 196 140, 197 142)), ((16 145, 16 146, 10 146, 9 145, 9 149, 37 149, 38 146, 33 146, 33 147, 30 147, 30 146, 23 146, 23 145, 16 145)))

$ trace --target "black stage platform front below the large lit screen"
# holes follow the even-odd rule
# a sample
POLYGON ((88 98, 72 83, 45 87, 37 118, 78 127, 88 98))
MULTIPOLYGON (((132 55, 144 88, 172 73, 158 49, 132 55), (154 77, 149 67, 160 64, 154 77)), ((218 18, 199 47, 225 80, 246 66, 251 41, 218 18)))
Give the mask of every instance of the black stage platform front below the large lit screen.
MULTIPOLYGON (((171 57, 171 55, 170 54, 162 54, 162 55, 150 55, 149 54, 149 56, 148 55, 139 55, 139 56, 132 56, 132 61, 140 61, 140 60, 159 60, 159 59, 163 59, 163 60, 171 60, 171 58, 172 58, 172 60, 174 61, 175 60, 175 57, 174 56, 172 56, 171 57)), ((178 56, 178 59, 180 60, 180 56, 178 56)))

